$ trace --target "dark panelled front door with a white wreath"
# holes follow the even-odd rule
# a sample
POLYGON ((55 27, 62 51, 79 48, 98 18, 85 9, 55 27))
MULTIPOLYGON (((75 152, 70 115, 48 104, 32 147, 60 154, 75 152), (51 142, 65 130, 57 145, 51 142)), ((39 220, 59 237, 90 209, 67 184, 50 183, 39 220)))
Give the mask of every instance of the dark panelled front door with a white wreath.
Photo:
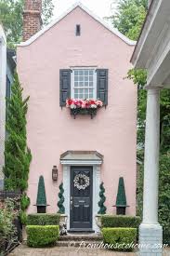
POLYGON ((71 229, 92 228, 93 168, 71 168, 71 229))

